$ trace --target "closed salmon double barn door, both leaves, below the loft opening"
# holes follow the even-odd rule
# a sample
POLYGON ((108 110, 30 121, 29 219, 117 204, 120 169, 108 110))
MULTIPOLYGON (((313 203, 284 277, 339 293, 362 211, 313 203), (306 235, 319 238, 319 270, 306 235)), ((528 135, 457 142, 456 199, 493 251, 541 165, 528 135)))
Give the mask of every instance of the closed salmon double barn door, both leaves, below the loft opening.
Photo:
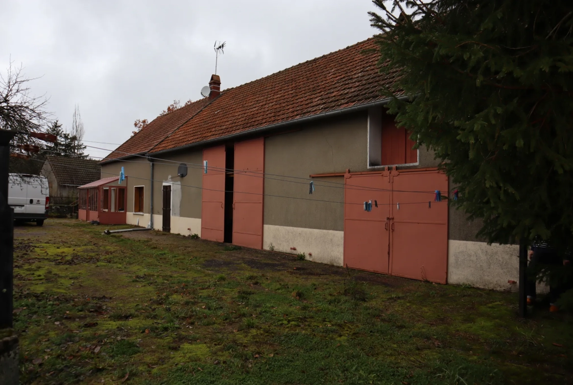
POLYGON ((446 283, 448 192, 438 170, 347 174, 344 192, 344 265, 354 269, 446 283), (372 211, 364 201, 372 200, 372 211), (377 201, 378 208, 374 202, 377 201))

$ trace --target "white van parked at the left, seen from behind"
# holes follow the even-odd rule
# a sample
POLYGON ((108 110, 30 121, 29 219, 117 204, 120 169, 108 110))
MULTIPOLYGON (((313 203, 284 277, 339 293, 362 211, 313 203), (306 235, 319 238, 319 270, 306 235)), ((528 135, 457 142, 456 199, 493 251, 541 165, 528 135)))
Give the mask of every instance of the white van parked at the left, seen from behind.
POLYGON ((50 204, 48 180, 40 175, 10 174, 8 204, 14 208, 14 220, 43 225, 50 204))

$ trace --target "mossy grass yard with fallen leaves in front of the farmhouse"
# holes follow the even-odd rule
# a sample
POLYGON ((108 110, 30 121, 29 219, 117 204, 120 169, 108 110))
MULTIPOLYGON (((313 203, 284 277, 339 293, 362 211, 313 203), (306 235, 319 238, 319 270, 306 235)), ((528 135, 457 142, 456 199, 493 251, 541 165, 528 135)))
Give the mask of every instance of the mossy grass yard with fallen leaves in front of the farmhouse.
POLYGON ((573 317, 515 294, 103 230, 15 229, 22 383, 573 383, 573 317))

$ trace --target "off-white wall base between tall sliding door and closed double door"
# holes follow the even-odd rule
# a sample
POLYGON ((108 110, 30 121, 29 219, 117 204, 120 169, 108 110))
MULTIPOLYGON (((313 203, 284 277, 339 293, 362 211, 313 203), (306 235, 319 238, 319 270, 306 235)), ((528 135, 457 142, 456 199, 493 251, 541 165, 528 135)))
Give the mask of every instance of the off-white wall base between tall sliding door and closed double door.
POLYGON ((313 262, 342 266, 344 232, 265 224, 262 247, 289 254, 304 252, 313 262), (296 247, 296 250, 291 250, 291 247, 296 247))

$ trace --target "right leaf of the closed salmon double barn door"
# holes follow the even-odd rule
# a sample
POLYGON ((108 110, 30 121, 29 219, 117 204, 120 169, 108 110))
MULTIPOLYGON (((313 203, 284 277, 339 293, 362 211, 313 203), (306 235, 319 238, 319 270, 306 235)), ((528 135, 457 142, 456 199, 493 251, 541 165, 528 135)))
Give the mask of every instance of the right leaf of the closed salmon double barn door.
POLYGON ((446 196, 448 177, 438 170, 393 170, 391 177, 390 274, 446 283, 448 201, 434 202, 434 191, 446 196))

